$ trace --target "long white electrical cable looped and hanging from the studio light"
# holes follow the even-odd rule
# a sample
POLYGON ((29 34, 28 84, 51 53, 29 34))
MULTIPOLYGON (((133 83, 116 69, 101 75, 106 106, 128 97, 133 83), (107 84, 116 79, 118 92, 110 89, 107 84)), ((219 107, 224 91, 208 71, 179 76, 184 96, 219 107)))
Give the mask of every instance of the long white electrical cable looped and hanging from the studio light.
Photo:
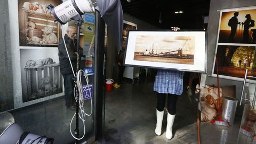
MULTIPOLYGON (((65 44, 65 48, 66 48, 66 52, 67 52, 67 55, 68 55, 68 59, 69 59, 69 62, 70 62, 70 66, 71 66, 71 69, 72 69, 72 72, 73 72, 73 75, 74 77, 76 77, 75 73, 74 73, 74 69, 73 69, 73 66, 72 66, 72 63, 71 63, 71 60, 70 60, 70 57, 69 57, 69 53, 68 53, 68 50, 67 50, 67 46, 66 46, 66 42, 65 42, 65 38, 64 38, 64 33, 63 33, 63 28, 62 28, 62 25, 60 24, 61 26, 61 31, 62 31, 62 36, 63 36, 63 42, 65 44)), ((71 121, 70 121, 70 125, 69 125, 69 131, 70 131, 70 134, 72 135, 73 138, 75 138, 76 140, 81 140, 84 138, 84 135, 85 135, 85 116, 91 116, 92 115, 92 111, 93 111, 93 106, 92 106, 92 97, 91 97, 91 91, 90 91, 90 87, 89 87, 89 78, 87 76, 87 74, 85 73, 84 70, 80 69, 78 70, 77 72, 77 82, 75 84, 75 87, 74 87, 74 97, 75 97, 75 100, 79 102, 79 109, 81 110, 81 115, 79 114, 78 112, 78 115, 79 115, 79 118, 83 121, 83 127, 84 127, 84 134, 83 134, 83 137, 82 138, 76 138, 72 131, 71 131, 71 124, 74 120, 74 117, 76 116, 76 113, 74 114, 74 116, 71 118, 71 121), (85 81, 86 81, 86 85, 83 89, 83 86, 82 86, 82 79, 81 79, 81 74, 84 75, 85 77, 85 81), (89 89, 89 97, 91 99, 91 112, 90 114, 86 114, 85 113, 85 110, 84 110, 84 95, 83 95, 83 92, 86 90, 86 87, 89 89), (78 89, 78 97, 76 95, 76 88, 78 89)))

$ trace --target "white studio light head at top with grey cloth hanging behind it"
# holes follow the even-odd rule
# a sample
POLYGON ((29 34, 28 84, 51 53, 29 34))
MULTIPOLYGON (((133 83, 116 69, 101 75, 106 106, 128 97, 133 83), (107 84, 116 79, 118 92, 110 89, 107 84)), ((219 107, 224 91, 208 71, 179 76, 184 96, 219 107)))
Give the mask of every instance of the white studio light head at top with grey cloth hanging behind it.
POLYGON ((81 15, 86 12, 95 12, 94 7, 99 10, 101 18, 107 23, 119 51, 123 32, 123 9, 119 0, 97 0, 95 3, 91 0, 68 0, 56 7, 47 6, 61 25, 75 20, 77 26, 82 26, 81 15))

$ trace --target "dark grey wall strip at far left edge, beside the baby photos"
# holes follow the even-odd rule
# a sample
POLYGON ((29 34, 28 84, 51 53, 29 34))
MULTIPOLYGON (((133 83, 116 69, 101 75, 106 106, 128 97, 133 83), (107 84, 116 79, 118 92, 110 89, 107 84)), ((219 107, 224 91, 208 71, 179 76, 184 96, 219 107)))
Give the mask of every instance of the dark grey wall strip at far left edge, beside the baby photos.
POLYGON ((0 109, 13 108, 12 53, 8 1, 0 5, 0 109))

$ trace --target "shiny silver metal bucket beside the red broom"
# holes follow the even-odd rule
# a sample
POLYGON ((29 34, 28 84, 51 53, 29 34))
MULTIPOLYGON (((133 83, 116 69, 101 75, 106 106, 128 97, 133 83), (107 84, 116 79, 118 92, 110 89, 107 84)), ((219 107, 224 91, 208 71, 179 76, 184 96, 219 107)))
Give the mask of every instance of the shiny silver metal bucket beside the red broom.
POLYGON ((221 118, 224 121, 228 121, 230 125, 234 124, 236 106, 236 99, 230 97, 223 97, 221 118))

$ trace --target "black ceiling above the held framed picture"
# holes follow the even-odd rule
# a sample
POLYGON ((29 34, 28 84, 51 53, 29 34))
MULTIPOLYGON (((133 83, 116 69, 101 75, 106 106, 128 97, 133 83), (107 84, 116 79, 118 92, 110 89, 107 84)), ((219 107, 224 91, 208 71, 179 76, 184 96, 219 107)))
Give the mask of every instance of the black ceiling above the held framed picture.
POLYGON ((121 4, 123 13, 162 29, 203 29, 210 8, 210 0, 121 0, 121 4))

